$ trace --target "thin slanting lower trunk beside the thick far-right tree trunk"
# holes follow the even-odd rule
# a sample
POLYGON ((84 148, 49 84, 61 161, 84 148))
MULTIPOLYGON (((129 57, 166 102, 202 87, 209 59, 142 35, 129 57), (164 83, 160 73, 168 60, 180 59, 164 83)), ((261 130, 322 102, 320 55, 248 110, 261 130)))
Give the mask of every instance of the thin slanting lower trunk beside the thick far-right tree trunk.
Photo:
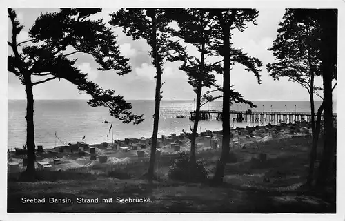
POLYGON ((324 102, 317 110, 316 122, 315 122, 315 129, 313 131, 313 143, 311 147, 311 162, 309 164, 309 173, 306 184, 311 187, 313 182, 313 175, 314 175, 314 167, 315 167, 315 160, 317 156, 317 145, 319 143, 319 134, 321 129, 321 116, 324 110, 324 102))

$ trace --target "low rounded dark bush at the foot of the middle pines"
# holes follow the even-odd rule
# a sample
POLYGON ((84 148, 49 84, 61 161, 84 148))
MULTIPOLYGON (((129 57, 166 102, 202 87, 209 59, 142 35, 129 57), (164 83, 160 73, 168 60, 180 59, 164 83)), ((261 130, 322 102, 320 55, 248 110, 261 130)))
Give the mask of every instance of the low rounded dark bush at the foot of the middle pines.
POLYGON ((190 163, 190 154, 180 152, 179 156, 169 167, 169 178, 185 182, 200 182, 206 180, 208 170, 204 166, 203 160, 197 160, 193 168, 190 163))

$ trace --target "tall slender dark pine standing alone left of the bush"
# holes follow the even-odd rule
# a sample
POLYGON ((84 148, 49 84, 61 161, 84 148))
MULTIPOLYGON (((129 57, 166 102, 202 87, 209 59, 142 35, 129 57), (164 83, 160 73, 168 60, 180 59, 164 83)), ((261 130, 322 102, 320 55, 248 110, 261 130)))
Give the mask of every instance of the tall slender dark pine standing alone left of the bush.
POLYGON ((159 123, 159 108, 161 101, 161 74, 163 74, 163 65, 166 61, 177 61, 178 54, 183 54, 185 48, 181 47, 178 41, 170 39, 171 28, 168 27, 171 19, 166 17, 164 9, 148 8, 121 9, 116 13, 110 14, 112 19, 111 25, 123 28, 127 36, 132 39, 145 39, 151 47, 150 56, 152 65, 156 68, 156 90, 155 90, 155 114, 153 115, 153 133, 152 147, 150 155, 150 165, 148 168, 148 181, 152 182, 155 169, 155 154, 157 149, 157 134, 159 123), (175 52, 178 53, 175 56, 175 52))

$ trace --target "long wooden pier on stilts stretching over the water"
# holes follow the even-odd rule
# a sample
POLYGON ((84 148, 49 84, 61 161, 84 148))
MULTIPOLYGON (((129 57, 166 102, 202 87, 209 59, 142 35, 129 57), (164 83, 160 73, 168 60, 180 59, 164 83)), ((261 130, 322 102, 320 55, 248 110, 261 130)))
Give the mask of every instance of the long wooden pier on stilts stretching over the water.
MULTIPOLYGON (((222 112, 218 110, 201 111, 199 120, 210 120, 213 114, 217 120, 222 120, 222 112)), ((253 112, 251 110, 230 110, 230 115, 233 115, 232 120, 237 122, 301 122, 303 120, 311 122, 311 112, 253 112)), ((337 118, 337 114, 333 114, 333 118, 337 118)), ((189 119, 192 121, 195 119, 195 112, 190 112, 189 119)))

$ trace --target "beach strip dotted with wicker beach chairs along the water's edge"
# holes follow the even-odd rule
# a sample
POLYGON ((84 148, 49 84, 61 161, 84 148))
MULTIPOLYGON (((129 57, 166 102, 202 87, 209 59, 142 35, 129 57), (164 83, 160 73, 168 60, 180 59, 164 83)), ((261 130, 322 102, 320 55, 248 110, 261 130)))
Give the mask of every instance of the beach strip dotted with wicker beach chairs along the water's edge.
MULTIPOLYGON (((231 129, 230 149, 246 149, 259 148, 263 143, 270 140, 279 140, 282 138, 293 138, 301 136, 311 136, 308 129, 308 123, 297 123, 291 125, 266 125, 257 127, 237 127, 231 129), (291 128, 295 128, 295 133, 291 133, 291 128), (298 132, 297 132, 298 131, 298 132)), ((106 157, 106 162, 116 163, 121 160, 132 160, 133 158, 144 158, 150 156, 150 138, 126 138, 125 140, 115 140, 114 143, 97 143, 89 144, 88 148, 84 148, 84 144, 80 146, 57 146, 53 148, 44 148, 42 152, 37 152, 37 162, 50 162, 54 165, 54 159, 61 159, 70 164, 70 167, 81 167, 75 163, 76 160, 83 162, 100 162, 101 157, 106 157), (95 159, 92 160, 90 147, 94 147, 95 159), (124 148, 125 147, 125 148, 124 148), (81 149, 83 148, 83 151, 81 149), (128 148, 128 149, 126 149, 128 148), (63 151, 61 151, 63 149, 63 151), (73 149, 73 150, 72 150, 73 149), (125 150, 126 149, 126 150, 125 150), (142 156, 139 156, 139 152, 142 156), (81 154, 82 153, 82 154, 81 154), (99 158, 99 160, 97 159, 99 158)), ((222 131, 206 131, 198 134, 196 139, 196 152, 199 151, 219 151, 222 146, 222 131), (214 141, 213 141, 214 140, 214 141)), ((75 143, 77 145, 77 143, 75 143)), ((181 133, 179 135, 170 134, 170 136, 161 136, 157 138, 157 151, 159 156, 176 155, 179 151, 190 151, 190 139, 188 135, 181 133)), ((8 162, 23 161, 26 154, 17 155, 16 151, 8 152, 8 162)), ((37 163, 36 162, 36 163, 37 163)), ((22 162, 22 167, 23 162, 22 162)), ((55 165, 54 165, 55 166, 55 165)))

